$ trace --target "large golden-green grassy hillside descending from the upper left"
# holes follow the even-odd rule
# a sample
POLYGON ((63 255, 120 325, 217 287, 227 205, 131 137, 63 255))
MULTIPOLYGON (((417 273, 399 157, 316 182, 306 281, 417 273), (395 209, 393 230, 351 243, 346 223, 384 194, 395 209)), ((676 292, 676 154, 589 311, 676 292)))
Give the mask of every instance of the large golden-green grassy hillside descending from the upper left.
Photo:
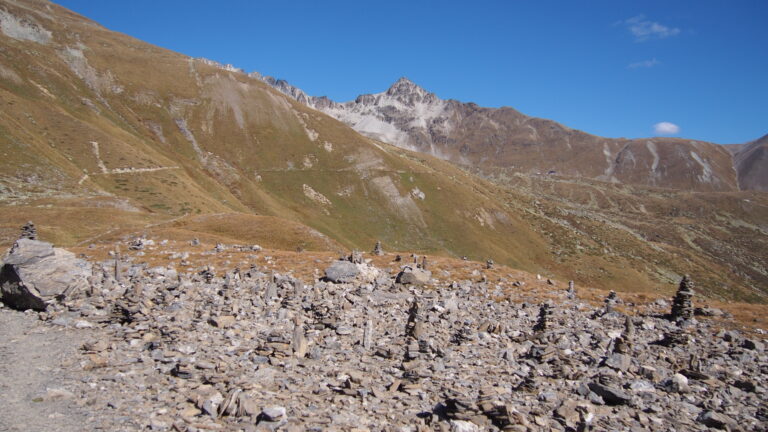
POLYGON ((539 268, 546 241, 495 203, 483 181, 448 164, 372 142, 245 74, 56 5, 4 1, 0 9, 13 17, 3 28, 18 30, 0 35, 8 230, 19 209, 35 219, 33 209, 48 206, 96 219, 85 227, 69 216, 39 218, 42 232, 71 231, 55 236, 65 243, 95 227, 116 230, 70 203, 87 198, 112 202, 110 211, 129 219, 151 215, 148 223, 257 213, 309 225, 345 247, 381 239, 389 249, 539 268), (49 37, 27 37, 41 33, 49 37))

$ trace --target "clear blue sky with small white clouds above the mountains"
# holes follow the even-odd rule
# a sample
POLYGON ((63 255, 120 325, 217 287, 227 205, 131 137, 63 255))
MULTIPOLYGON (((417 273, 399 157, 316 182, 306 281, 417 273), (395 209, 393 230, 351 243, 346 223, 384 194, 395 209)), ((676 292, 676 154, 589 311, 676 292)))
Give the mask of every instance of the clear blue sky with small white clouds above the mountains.
POLYGON ((768 133, 765 0, 59 3, 337 101, 407 76, 441 98, 608 137, 768 133))

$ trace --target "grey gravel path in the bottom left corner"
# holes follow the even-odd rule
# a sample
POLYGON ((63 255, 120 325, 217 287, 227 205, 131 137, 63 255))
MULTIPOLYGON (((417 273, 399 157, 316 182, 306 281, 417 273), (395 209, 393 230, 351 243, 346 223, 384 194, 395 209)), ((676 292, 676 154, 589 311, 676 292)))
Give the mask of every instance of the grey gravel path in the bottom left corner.
POLYGON ((99 430, 77 363, 89 333, 0 308, 0 431, 99 430))

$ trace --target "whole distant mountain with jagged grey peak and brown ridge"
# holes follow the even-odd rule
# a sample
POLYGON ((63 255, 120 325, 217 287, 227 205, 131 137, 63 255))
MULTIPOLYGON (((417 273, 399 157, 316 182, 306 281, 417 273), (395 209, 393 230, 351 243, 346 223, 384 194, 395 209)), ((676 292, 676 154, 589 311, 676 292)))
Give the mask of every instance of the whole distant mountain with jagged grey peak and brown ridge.
POLYGON ((346 103, 264 80, 364 135, 460 164, 686 190, 738 189, 731 156, 717 144, 602 138, 508 107, 442 100, 406 78, 346 103))

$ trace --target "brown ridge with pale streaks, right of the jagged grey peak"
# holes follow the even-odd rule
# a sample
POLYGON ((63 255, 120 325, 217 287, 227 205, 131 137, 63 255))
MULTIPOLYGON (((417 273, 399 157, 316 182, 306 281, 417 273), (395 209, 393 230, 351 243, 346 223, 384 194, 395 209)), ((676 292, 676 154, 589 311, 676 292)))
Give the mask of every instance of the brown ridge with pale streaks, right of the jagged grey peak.
POLYGON ((461 156, 480 166, 686 190, 737 190, 731 156, 716 144, 603 138, 512 108, 452 105, 458 126, 436 138, 449 147, 461 145, 461 156))

